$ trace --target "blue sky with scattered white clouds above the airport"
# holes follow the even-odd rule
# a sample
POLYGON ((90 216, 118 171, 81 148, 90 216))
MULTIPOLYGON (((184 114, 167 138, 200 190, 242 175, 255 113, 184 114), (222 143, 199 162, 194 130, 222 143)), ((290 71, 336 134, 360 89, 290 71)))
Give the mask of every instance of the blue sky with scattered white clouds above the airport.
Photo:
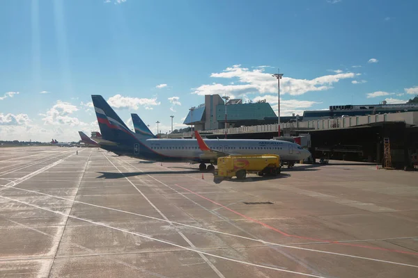
POLYGON ((98 131, 91 95, 132 128, 185 127, 204 95, 281 115, 418 95, 418 1, 0 1, 0 140, 98 131))

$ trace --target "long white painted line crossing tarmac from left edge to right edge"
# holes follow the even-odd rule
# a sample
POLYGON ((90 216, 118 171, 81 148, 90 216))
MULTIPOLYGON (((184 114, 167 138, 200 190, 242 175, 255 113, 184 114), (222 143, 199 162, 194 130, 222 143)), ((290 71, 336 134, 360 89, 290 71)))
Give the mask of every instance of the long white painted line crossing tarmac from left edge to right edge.
MULTIPOLYGON (((29 189, 24 189, 24 188, 18 188, 18 187, 15 187, 13 189, 14 190, 22 190, 22 191, 29 192, 29 193, 36 193, 36 194, 44 195, 44 196, 47 196, 47 197, 54 197, 56 199, 63 199, 65 201, 75 202, 75 203, 78 203, 78 204, 84 204, 86 206, 93 206, 93 207, 96 207, 96 208, 104 208, 104 209, 107 209, 109 211, 117 211, 119 213, 126 213, 126 214, 135 215, 135 216, 139 216, 139 217, 143 217, 143 218, 148 218, 148 219, 152 219, 152 220, 158 220, 158 221, 162 221, 162 222, 171 222, 173 224, 180 225, 180 226, 184 226, 184 227, 188 227, 188 228, 192 228, 192 229, 199 229, 199 230, 202 230, 202 231, 209 231, 209 232, 212 232, 212 233, 215 233, 215 234, 223 234, 225 236, 233 236, 235 238, 242 238, 242 239, 245 239, 245 240, 256 241, 258 243, 263 243, 264 245, 272 245, 272 246, 290 248, 290 249, 295 249, 295 250, 304 250, 304 251, 309 251, 309 252, 316 252, 316 253, 323 253, 323 254, 331 254, 331 255, 336 255, 336 256, 346 256, 346 257, 355 258, 355 259, 364 259, 364 260, 368 260, 368 261, 377 261, 377 262, 381 262, 381 263, 390 263, 390 264, 394 264, 394 265, 404 265, 404 266, 409 266, 409 267, 412 267, 412 268, 418 268, 418 265, 409 265, 407 263, 398 263, 396 261, 385 261, 385 260, 373 259, 373 258, 364 257, 364 256, 355 256, 355 255, 350 255, 350 254, 343 254, 343 253, 336 253, 336 252, 328 252, 328 251, 323 251, 323 250, 315 250, 315 249, 310 249, 310 248, 293 246, 293 245, 304 245, 304 244, 308 244, 308 243, 291 243, 292 245, 286 244, 286 243, 285 244, 271 243, 271 242, 268 242, 268 241, 265 241, 265 240, 260 240, 260 239, 256 239, 256 238, 249 238, 247 236, 240 236, 240 235, 236 235, 236 234, 230 234, 230 233, 226 233, 224 231, 217 231, 217 230, 212 230, 212 229, 206 229, 206 228, 203 228, 203 227, 197 227, 197 226, 193 226, 193 225, 189 225, 189 224, 185 224, 185 223, 181 223, 181 222, 176 222, 176 221, 171 221, 171 220, 164 220, 162 218, 155 218, 153 216, 144 215, 144 214, 140 214, 140 213, 132 213, 130 211, 123 211, 123 210, 118 209, 118 208, 110 208, 108 206, 100 206, 100 205, 97 205, 97 204, 86 203, 86 202, 82 202, 82 201, 68 199, 68 198, 65 198, 65 197, 60 197, 60 196, 56 196, 56 195, 50 195, 50 194, 47 194, 47 193, 40 193, 40 192, 34 191, 34 190, 29 190, 29 189)), ((418 236, 417 237, 412 237, 412 238, 418 238, 418 236)), ((378 241, 378 240, 388 240, 388 239, 391 239, 391 238, 382 238, 382 239, 375 239, 375 240, 378 241)), ((319 244, 319 243, 316 243, 316 244, 319 244)))

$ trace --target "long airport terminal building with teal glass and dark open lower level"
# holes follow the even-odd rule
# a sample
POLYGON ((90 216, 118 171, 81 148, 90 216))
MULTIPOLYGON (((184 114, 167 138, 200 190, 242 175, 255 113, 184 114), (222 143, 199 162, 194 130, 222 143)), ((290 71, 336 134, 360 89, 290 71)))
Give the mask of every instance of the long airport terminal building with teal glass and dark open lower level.
MULTIPOLYGON (((281 136, 310 135, 314 160, 325 156, 386 165, 390 154, 392 167, 418 165, 418 104, 330 106, 280 117, 280 122, 281 136)), ((272 139, 278 131, 277 115, 267 102, 230 99, 225 104, 219 95, 206 95, 205 104, 191 109, 184 123, 204 130, 206 138, 224 138, 227 133, 228 138, 272 139)), ((192 132, 173 136, 191 138, 192 132)))

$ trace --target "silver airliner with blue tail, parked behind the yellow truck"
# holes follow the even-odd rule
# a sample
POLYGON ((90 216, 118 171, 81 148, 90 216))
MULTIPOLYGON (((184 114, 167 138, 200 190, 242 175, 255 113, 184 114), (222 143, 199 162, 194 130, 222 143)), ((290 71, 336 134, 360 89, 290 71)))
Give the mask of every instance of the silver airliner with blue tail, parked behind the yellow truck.
POLYGON ((134 133, 101 95, 92 95, 102 138, 102 149, 119 155, 148 161, 200 163, 199 170, 214 170, 217 157, 229 154, 278 154, 281 161, 295 163, 311 153, 293 142, 254 139, 206 139, 211 152, 202 151, 196 139, 159 139, 148 134, 134 133), (206 164, 210 163, 208 167, 206 164))

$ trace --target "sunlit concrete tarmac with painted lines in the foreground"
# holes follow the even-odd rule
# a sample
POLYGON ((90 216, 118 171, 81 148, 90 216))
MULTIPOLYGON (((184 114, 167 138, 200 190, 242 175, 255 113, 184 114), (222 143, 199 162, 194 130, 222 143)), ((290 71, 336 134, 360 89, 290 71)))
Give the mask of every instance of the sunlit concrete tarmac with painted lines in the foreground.
POLYGON ((417 172, 197 166, 0 148, 0 277, 418 277, 417 172))

